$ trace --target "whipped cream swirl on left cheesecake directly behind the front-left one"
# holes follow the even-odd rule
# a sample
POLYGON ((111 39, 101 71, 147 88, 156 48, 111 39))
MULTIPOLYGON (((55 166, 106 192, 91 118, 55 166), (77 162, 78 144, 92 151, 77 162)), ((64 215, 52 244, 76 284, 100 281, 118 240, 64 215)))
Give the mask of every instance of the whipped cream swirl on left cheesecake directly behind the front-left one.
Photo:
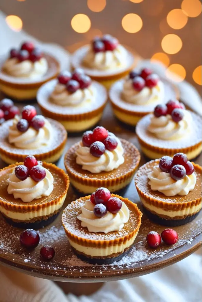
POLYGON ((8 130, 8 142, 14 144, 20 149, 38 149, 48 146, 52 141, 52 126, 47 119, 45 124, 39 130, 29 127, 27 131, 20 132, 17 129, 19 116, 16 115, 13 119, 13 124, 8 130))

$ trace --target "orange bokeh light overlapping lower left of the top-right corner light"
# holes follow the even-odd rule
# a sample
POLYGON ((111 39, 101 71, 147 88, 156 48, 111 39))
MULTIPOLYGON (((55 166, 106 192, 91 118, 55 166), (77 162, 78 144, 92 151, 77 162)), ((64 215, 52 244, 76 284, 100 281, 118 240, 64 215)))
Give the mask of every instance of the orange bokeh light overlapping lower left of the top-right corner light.
POLYGON ((188 17, 181 9, 173 9, 167 14, 167 23, 174 29, 183 28, 187 21, 188 17))

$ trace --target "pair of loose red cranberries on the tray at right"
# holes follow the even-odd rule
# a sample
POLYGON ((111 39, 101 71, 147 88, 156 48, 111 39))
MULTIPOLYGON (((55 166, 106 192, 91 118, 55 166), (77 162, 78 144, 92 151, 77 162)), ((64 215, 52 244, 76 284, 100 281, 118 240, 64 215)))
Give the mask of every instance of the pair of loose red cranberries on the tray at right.
POLYGON ((162 231, 161 236, 155 231, 147 234, 147 244, 153 249, 156 249, 161 244, 161 238, 166 244, 175 244, 178 240, 178 234, 173 229, 165 229, 162 231))

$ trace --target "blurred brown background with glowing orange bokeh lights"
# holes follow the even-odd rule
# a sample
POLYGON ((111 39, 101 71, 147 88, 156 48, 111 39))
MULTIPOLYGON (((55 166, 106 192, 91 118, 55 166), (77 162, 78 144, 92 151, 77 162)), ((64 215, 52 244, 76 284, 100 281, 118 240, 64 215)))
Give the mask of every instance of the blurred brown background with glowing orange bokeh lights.
POLYGON ((70 52, 95 35, 112 34, 201 94, 199 0, 1 0, 0 9, 13 31, 23 29, 70 52))

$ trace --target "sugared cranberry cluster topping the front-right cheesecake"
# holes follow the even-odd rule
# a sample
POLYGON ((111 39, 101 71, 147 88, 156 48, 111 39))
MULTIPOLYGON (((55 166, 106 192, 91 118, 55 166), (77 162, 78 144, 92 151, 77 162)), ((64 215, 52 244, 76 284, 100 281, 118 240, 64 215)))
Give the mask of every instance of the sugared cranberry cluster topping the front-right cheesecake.
POLYGON ((159 161, 161 171, 170 173, 175 180, 183 179, 186 175, 191 175, 194 172, 193 164, 188 161, 184 153, 176 153, 173 158, 163 156, 159 161))

